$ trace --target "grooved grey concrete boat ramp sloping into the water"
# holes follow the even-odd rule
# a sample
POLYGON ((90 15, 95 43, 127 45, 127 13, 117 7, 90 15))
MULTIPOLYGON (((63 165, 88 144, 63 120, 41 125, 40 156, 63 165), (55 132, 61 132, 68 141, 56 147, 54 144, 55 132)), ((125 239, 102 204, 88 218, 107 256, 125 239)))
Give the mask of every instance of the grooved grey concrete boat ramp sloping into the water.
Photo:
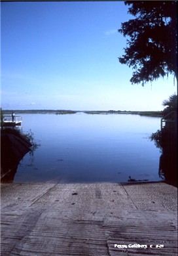
POLYGON ((1 184, 1 255, 177 255, 177 188, 1 184))

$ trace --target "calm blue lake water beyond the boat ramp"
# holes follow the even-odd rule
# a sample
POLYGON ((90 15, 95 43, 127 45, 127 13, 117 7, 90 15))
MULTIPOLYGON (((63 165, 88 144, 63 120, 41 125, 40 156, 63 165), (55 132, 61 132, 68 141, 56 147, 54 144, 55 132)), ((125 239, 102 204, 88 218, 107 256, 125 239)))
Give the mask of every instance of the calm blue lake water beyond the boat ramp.
POLYGON ((14 182, 160 181, 160 150, 149 140, 159 117, 128 114, 22 114, 37 143, 14 182))

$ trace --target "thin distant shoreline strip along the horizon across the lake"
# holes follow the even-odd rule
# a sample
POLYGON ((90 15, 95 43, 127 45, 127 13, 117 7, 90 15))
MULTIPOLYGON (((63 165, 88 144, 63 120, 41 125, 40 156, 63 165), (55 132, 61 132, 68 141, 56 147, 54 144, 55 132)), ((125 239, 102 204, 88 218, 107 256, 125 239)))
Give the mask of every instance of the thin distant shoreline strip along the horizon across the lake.
POLYGON ((151 117, 162 117, 162 111, 121 111, 121 110, 97 110, 97 111, 73 111, 73 110, 3 110, 4 114, 76 114, 76 113, 85 113, 85 114, 131 114, 139 116, 151 116, 151 117))

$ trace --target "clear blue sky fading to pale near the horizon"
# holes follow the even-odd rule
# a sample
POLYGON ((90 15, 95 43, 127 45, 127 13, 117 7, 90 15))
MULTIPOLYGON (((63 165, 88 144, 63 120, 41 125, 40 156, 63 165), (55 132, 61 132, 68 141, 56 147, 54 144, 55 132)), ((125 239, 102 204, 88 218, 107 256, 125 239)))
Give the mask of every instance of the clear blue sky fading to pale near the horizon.
POLYGON ((162 110, 173 75, 132 85, 124 2, 1 2, 3 109, 162 110))

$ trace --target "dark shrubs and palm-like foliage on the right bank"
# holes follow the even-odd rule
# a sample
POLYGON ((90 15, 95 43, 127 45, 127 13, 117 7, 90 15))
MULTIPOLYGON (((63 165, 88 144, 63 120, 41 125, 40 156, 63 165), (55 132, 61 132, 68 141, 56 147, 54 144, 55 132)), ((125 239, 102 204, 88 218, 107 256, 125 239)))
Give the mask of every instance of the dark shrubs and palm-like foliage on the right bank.
POLYGON ((154 140, 156 147, 160 148, 159 175, 160 178, 177 186, 177 95, 171 95, 164 100, 165 126, 152 133, 150 139, 154 140))

